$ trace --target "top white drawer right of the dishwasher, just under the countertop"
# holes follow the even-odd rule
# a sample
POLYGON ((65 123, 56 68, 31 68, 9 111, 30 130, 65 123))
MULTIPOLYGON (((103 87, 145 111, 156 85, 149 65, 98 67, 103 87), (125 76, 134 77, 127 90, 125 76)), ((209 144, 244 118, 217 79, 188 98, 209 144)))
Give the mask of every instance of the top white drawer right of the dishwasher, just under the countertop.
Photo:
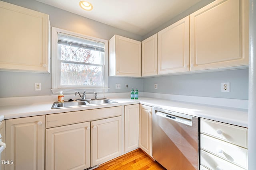
POLYGON ((248 129, 244 127, 201 119, 201 133, 248 148, 248 129))

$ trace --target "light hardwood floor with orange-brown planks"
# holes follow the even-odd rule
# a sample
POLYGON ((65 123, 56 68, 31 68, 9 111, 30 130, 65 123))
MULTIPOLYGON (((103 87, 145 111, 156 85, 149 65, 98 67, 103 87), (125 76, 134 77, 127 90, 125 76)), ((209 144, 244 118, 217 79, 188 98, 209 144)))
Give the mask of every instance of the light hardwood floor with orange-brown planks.
POLYGON ((95 170, 166 170, 158 162, 152 160, 142 150, 137 149, 128 154, 110 160, 95 170))

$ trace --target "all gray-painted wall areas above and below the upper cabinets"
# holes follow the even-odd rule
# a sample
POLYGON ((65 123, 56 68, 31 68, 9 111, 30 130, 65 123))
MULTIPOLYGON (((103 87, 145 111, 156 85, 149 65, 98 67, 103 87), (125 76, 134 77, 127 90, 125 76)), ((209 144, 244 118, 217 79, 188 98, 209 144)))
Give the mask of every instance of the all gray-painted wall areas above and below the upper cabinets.
MULTIPOLYGON (((118 34, 142 41, 154 33, 157 33, 161 29, 209 4, 213 0, 202 0, 175 18, 170 18, 168 22, 160 25, 157 29, 147 33, 144 36, 135 35, 133 33, 129 33, 127 31, 72 14, 70 12, 42 4, 36 0, 4 1, 49 14, 50 23, 53 27, 59 27, 102 39, 110 39, 114 34, 118 34)), ((248 99, 248 69, 143 79, 109 77, 110 89, 108 92, 130 92, 132 87, 138 87, 140 92, 144 91, 163 94, 248 99), (220 92, 221 82, 231 83, 230 93, 220 92), (116 83, 121 84, 120 90, 115 89, 116 83), (126 83, 129 84, 128 89, 124 88, 126 83), (155 83, 158 84, 158 90, 154 90, 155 83)), ((51 88, 51 74, 0 72, 0 97, 51 95, 51 88), (42 91, 35 91, 34 83, 42 83, 42 91)))

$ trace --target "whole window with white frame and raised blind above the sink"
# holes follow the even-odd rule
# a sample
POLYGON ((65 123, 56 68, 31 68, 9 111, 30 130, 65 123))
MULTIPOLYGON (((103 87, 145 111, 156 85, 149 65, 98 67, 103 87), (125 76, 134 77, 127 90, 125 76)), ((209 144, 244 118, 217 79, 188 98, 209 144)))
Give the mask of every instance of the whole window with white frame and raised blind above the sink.
POLYGON ((108 88, 108 41, 52 28, 52 91, 108 88))

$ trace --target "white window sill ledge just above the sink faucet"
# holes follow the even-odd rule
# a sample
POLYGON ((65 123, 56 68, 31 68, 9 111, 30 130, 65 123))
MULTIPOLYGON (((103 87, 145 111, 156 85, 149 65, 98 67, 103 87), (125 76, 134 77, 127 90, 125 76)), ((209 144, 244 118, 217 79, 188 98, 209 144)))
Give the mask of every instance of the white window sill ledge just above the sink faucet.
POLYGON ((84 92, 84 90, 86 91, 86 93, 104 93, 104 92, 108 92, 109 88, 77 88, 77 89, 65 89, 65 88, 53 88, 52 90, 52 94, 59 94, 60 91, 62 91, 64 94, 73 94, 76 91, 79 92, 84 92))

